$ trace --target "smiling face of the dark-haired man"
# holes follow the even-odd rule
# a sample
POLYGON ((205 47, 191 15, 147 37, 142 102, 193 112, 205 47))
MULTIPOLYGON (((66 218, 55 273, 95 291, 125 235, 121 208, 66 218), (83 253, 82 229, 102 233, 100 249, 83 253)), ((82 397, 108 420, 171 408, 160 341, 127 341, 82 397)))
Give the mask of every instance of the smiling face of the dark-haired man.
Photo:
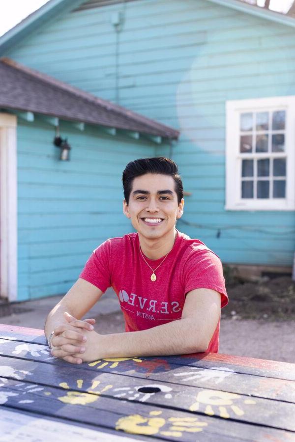
POLYGON ((147 173, 134 178, 129 204, 123 202, 123 213, 139 234, 158 239, 174 231, 183 204, 182 199, 178 205, 172 176, 147 173))

